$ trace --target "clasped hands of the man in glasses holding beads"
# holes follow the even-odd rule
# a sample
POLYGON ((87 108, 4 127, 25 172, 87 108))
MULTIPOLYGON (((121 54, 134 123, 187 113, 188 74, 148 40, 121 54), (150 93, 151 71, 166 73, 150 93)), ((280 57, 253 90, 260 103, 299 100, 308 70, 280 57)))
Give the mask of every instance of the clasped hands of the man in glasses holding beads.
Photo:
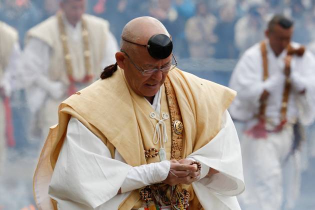
POLYGON ((193 160, 191 159, 180 159, 175 160, 171 159, 170 169, 168 175, 163 183, 169 185, 176 185, 179 183, 182 184, 191 184, 193 181, 198 180, 200 176, 200 171, 197 171, 197 165, 192 164, 193 160))

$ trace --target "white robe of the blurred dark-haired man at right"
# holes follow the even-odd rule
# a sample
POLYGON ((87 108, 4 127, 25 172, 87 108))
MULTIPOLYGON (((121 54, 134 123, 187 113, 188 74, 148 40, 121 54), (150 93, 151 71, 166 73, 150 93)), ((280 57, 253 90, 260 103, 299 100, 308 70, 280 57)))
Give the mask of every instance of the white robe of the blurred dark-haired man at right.
MULTIPOLYGON (((297 47, 297 43, 292 43, 297 47)), ((259 97, 264 89, 270 94, 267 99, 265 116, 267 126, 274 127, 280 122, 280 108, 284 88, 284 57, 286 50, 275 56, 267 42, 267 60, 269 77, 262 80, 262 56, 259 43, 245 51, 238 61, 231 79, 230 88, 237 91, 237 96, 230 106, 230 113, 234 119, 244 121, 244 128, 248 129, 257 123, 254 117, 259 110, 259 97)), ((292 123, 298 119, 303 124, 310 124, 314 120, 315 107, 315 58, 305 51, 302 57, 293 56, 291 60, 292 88, 287 106, 286 126, 277 133, 268 133, 265 139, 254 139, 246 134, 242 135, 241 150, 243 156, 244 178, 246 190, 240 195, 240 204, 247 209, 280 209, 282 196, 283 166, 290 165, 288 174, 291 188, 287 190, 287 207, 292 207, 298 196, 300 178, 299 152, 288 158, 292 145, 292 123), (299 91, 305 89, 305 94, 299 91), (288 159, 287 159, 288 158, 288 159)))

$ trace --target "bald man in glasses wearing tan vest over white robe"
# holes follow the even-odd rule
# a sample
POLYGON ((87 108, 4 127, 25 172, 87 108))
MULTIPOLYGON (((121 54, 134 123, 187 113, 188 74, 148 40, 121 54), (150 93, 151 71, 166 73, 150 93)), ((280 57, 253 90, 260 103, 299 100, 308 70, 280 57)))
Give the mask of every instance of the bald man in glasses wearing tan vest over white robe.
POLYGON ((59 105, 34 174, 38 208, 240 209, 235 92, 176 68, 152 17, 124 26, 115 58, 59 105))

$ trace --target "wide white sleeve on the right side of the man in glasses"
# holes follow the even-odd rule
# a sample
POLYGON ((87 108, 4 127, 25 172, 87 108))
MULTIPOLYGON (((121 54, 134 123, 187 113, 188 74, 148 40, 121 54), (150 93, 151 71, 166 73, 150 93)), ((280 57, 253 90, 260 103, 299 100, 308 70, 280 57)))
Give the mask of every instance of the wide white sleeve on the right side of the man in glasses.
POLYGON ((217 135, 189 157, 219 171, 192 184, 202 206, 205 209, 225 209, 209 208, 221 205, 229 207, 226 209, 238 209, 235 195, 240 194, 245 186, 239 140, 227 110, 223 113, 221 129, 217 135), (216 197, 213 199, 220 202, 209 203, 207 200, 210 197, 216 197))

